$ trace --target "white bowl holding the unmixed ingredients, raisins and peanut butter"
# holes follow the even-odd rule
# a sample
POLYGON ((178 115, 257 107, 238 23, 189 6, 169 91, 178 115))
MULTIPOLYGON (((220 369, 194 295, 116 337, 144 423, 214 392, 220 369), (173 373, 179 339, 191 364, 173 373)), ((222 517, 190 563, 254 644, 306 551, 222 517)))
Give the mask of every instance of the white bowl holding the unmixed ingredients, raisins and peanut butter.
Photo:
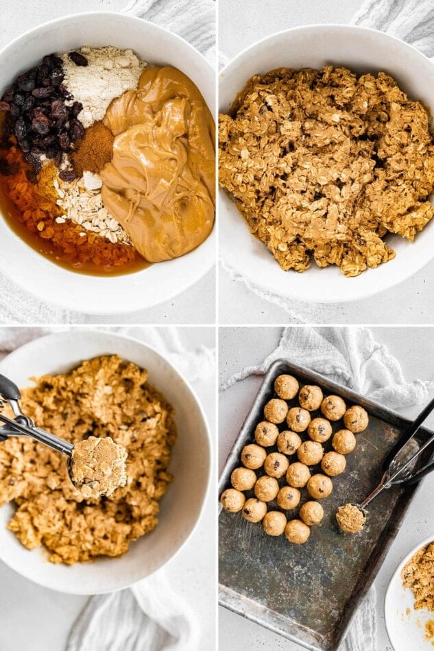
MULTIPOLYGON (((81 45, 131 48, 151 64, 175 66, 195 82, 215 112, 215 73, 197 50, 157 25, 112 12, 67 16, 16 38, 0 52, 0 95, 45 54, 81 45)), ((181 258, 106 278, 58 267, 14 234, 4 219, 0 219, 0 240, 3 273, 40 300, 86 314, 152 307, 185 291, 215 264, 214 233, 181 258)))

